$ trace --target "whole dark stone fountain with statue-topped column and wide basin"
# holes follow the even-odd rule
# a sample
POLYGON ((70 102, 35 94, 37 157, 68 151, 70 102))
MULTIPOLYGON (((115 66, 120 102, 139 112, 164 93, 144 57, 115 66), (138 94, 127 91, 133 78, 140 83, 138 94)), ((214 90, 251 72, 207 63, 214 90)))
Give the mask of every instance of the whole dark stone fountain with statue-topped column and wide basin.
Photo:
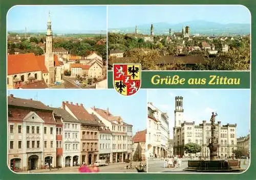
POLYGON ((197 171, 197 172, 238 172, 243 171, 241 168, 240 160, 234 159, 218 159, 218 129, 215 123, 215 117, 217 113, 212 112, 210 122, 211 122, 211 137, 209 139, 208 147, 210 149, 210 160, 189 160, 187 162, 187 168, 185 171, 197 171))

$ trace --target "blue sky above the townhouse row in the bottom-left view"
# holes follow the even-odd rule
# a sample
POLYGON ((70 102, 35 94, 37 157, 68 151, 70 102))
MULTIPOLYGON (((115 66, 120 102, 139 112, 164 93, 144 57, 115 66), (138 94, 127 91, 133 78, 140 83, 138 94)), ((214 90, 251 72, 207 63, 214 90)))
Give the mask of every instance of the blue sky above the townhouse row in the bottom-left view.
POLYGON ((146 128, 146 90, 139 90, 132 96, 122 96, 115 90, 8 90, 19 98, 33 98, 45 105, 59 108, 62 101, 83 104, 85 108, 107 109, 116 116, 121 116, 124 122, 133 125, 133 132, 146 128))

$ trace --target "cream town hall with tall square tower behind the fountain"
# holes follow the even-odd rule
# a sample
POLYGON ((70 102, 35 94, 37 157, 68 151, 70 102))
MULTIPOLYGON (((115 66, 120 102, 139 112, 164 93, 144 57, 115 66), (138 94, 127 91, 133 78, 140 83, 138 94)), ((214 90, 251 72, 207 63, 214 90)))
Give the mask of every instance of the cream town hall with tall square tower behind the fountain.
MULTIPOLYGON (((209 158, 210 150, 208 148, 209 139, 211 137, 211 123, 203 120, 202 123, 196 125, 195 121, 187 122, 183 119, 183 97, 175 97, 175 124, 173 128, 174 133, 174 155, 188 157, 184 152, 184 146, 187 143, 196 143, 201 146, 201 152, 197 155, 209 158)), ((233 150, 237 149, 237 124, 221 125, 221 121, 216 123, 216 136, 219 142, 218 157, 225 158, 233 155, 233 150)))

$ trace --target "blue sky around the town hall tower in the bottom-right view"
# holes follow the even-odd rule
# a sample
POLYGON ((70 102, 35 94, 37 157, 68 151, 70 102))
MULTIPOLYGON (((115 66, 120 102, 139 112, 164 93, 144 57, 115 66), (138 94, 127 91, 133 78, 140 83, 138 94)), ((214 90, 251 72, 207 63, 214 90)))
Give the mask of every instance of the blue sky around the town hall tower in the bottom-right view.
POLYGON ((183 119, 209 121, 211 112, 216 112, 216 121, 222 125, 237 123, 237 136, 249 133, 250 125, 250 90, 218 89, 161 89, 148 90, 147 101, 169 116, 170 137, 173 137, 175 96, 183 96, 183 119))

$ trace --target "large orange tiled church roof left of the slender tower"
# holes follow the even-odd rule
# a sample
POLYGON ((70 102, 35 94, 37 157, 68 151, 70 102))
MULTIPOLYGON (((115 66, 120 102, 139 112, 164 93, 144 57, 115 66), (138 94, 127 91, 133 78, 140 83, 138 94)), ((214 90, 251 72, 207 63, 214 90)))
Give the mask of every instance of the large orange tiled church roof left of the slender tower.
POLYGON ((7 60, 8 75, 41 70, 34 53, 8 55, 7 60))

